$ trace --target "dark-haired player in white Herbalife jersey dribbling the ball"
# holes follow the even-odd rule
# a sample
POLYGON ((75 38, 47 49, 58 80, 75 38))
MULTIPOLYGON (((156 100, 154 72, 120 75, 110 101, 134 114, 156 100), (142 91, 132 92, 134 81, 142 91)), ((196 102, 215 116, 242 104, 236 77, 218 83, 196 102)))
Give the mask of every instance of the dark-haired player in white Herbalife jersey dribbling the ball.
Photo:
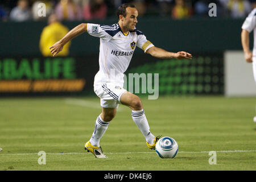
POLYGON ((92 152, 96 158, 107 158, 101 150, 100 139, 115 117, 119 104, 130 107, 133 121, 144 135, 148 148, 155 149, 155 144, 160 138, 150 133, 141 99, 123 89, 123 73, 129 66, 135 47, 159 58, 192 59, 190 53, 168 52, 148 41, 146 36, 135 28, 138 23, 138 11, 134 5, 121 5, 117 16, 118 23, 112 25, 81 23, 50 47, 52 55, 55 56, 69 40, 83 32, 100 38, 100 71, 94 77, 93 86, 94 92, 101 98, 102 113, 96 119, 92 137, 85 143, 85 150, 92 152))

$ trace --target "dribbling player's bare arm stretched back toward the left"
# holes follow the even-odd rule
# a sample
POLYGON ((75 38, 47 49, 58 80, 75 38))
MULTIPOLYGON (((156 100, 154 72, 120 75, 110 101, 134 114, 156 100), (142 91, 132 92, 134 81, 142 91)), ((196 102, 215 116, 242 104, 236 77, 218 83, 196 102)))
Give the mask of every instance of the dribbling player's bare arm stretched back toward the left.
POLYGON ((53 44, 49 49, 51 49, 51 53, 53 56, 57 55, 60 51, 62 51, 63 46, 69 42, 69 40, 75 38, 76 36, 87 31, 87 23, 81 23, 79 26, 76 26, 71 31, 68 32, 61 40, 53 44))

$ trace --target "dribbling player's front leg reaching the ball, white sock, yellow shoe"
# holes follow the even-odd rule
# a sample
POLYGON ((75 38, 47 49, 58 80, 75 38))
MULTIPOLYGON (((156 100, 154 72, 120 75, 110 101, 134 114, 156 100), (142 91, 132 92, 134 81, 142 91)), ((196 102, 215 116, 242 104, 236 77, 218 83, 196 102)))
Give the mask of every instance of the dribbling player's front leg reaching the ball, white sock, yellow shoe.
POLYGON ((125 92, 120 98, 121 104, 129 106, 131 108, 131 116, 133 121, 141 130, 142 134, 146 139, 148 148, 155 149, 155 144, 160 137, 155 137, 150 132, 150 127, 147 122, 146 115, 144 114, 141 99, 130 92, 125 92))

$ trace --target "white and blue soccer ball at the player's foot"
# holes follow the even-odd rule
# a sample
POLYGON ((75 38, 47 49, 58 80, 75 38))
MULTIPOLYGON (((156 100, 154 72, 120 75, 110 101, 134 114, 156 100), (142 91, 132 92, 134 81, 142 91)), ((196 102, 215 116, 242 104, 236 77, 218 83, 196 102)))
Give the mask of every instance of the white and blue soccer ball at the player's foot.
POLYGON ((155 145, 156 154, 160 158, 175 158, 178 149, 177 142, 171 137, 160 138, 155 145))

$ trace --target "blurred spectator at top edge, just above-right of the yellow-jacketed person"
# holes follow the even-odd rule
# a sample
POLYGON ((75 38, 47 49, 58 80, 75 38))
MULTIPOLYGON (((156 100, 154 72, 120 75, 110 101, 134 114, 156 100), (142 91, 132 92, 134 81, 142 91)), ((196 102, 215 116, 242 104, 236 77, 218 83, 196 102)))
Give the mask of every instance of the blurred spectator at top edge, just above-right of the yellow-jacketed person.
POLYGON ((59 20, 81 20, 82 10, 72 0, 60 0, 55 13, 59 20))

